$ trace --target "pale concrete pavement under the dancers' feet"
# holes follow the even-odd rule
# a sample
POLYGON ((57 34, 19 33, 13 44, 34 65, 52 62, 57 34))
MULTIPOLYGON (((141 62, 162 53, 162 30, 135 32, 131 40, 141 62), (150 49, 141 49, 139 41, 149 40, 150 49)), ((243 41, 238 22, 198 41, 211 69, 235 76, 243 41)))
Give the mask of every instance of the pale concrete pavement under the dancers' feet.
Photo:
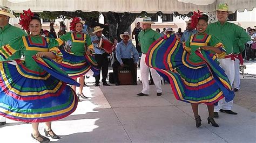
MULTIPOLYGON (((220 127, 207 124, 206 105, 200 104, 203 125, 199 128, 190 104, 177 101, 168 84, 163 85, 162 96, 156 96, 156 88, 151 85, 150 95, 145 97, 136 96, 142 90, 141 84, 86 87, 84 93, 90 98, 82 99, 69 117, 53 121, 53 131, 62 138, 51 141, 255 142, 255 82, 255 79, 241 80, 242 89, 233 108, 238 115, 219 113, 215 121, 220 127), (250 105, 245 106, 248 102, 250 105)), ((12 120, 7 123, 0 126, 0 142, 36 142, 30 137, 30 124, 12 120)), ((42 135, 43 129, 42 123, 39 126, 42 135)))

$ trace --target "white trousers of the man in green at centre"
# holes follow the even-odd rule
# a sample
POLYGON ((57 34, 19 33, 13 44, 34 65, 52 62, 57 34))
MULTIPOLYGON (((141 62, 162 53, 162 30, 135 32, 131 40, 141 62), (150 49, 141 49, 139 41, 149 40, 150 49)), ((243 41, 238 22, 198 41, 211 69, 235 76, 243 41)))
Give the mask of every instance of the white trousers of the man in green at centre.
POLYGON ((161 77, 157 73, 157 71, 153 68, 149 68, 145 63, 146 55, 142 54, 142 58, 140 59, 140 75, 142 76, 142 85, 143 85, 143 94, 149 94, 150 86, 149 86, 149 69, 151 71, 151 75, 153 77, 154 85, 156 85, 157 92, 162 92, 161 89, 161 77))

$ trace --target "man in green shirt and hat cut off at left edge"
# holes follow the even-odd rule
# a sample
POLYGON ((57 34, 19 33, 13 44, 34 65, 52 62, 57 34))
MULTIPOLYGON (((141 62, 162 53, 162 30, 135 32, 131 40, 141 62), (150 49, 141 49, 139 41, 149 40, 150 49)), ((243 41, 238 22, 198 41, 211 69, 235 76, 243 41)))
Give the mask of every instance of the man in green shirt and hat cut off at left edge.
MULTIPOLYGON (((0 5, 0 46, 7 45, 11 39, 26 35, 21 28, 9 24, 9 19, 15 18, 11 14, 11 10, 5 6, 0 5)), ((19 53, 15 53, 14 59, 19 59, 19 53)), ((0 125, 6 124, 5 118, 0 116, 0 125)))

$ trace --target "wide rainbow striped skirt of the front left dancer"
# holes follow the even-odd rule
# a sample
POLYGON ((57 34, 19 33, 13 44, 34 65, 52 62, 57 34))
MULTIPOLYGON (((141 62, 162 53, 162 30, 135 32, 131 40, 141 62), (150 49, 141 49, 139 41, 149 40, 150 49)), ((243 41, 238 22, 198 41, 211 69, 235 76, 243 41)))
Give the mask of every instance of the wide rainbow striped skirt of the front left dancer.
POLYGON ((72 88, 46 71, 0 62, 0 115, 17 121, 45 122, 69 116, 77 108, 72 88))

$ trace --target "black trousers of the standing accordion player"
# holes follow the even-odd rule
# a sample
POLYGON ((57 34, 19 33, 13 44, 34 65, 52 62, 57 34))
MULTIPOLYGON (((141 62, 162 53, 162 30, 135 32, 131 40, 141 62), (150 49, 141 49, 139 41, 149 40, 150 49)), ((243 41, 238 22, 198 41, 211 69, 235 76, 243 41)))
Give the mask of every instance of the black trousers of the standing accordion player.
POLYGON ((109 61, 107 60, 107 53, 95 54, 95 60, 97 61, 99 68, 99 75, 95 76, 95 83, 99 83, 100 70, 102 70, 102 82, 106 83, 107 71, 109 70, 109 61))

